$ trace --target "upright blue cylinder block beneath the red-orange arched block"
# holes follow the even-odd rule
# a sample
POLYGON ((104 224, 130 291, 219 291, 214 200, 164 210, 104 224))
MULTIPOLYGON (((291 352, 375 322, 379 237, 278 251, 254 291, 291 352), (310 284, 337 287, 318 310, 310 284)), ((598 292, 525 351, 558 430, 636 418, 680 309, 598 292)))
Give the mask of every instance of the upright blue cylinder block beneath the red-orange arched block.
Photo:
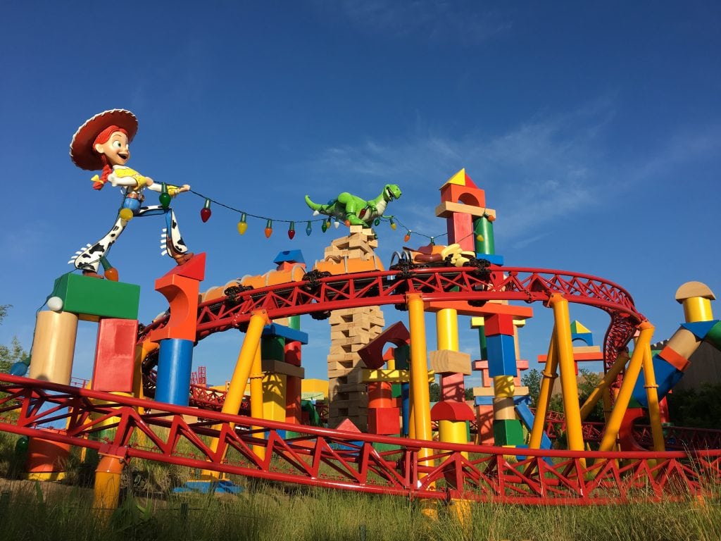
POLYGON ((160 340, 155 400, 187 406, 192 368, 193 340, 182 338, 160 340))

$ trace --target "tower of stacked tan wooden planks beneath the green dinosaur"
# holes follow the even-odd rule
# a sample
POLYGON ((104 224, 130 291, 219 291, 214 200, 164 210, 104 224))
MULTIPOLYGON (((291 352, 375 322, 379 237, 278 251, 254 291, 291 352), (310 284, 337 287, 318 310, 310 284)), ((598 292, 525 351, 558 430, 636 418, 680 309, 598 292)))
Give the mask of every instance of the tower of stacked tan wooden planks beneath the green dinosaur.
MULTIPOLYGON (((378 241, 371 229, 350 226, 347 237, 335 239, 325 249, 326 260, 343 260, 348 272, 355 271, 353 260, 375 259, 378 241)), ((381 266, 380 263, 376 263, 381 266)), ((379 268, 382 270, 382 268, 379 268)), ((348 418, 362 431, 368 423, 368 393, 358 350, 376 338, 385 325, 379 307, 335 310, 330 315, 330 351, 328 354, 329 426, 348 418)))

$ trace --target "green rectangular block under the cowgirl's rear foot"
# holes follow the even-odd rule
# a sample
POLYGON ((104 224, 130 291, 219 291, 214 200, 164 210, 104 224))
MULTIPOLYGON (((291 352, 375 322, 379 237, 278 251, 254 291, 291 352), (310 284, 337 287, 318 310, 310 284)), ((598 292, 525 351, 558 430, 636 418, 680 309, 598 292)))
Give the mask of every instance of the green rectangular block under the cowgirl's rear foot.
POLYGON ((140 286, 133 283, 65 274, 55 281, 53 296, 63 300, 64 312, 77 314, 81 320, 97 321, 100 317, 138 319, 140 286))

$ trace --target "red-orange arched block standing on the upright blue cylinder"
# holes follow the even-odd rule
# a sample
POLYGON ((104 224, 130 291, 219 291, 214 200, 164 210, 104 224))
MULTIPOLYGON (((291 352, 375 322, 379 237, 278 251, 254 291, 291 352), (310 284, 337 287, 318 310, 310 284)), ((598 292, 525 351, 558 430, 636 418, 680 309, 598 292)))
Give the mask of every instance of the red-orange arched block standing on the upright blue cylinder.
POLYGON ((200 283, 197 280, 177 274, 166 275, 155 281, 155 290, 168 301, 170 319, 165 327, 152 333, 149 340, 154 342, 164 338, 195 340, 199 289, 200 283))

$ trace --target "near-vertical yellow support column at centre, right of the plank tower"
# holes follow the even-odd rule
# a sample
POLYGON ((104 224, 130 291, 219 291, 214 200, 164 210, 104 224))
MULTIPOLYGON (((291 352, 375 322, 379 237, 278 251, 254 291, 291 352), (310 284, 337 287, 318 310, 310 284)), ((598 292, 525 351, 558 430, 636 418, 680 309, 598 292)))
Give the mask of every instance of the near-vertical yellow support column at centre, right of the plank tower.
MULTIPOLYGON (((428 352, 425 346, 425 315, 423 299, 420 294, 407 295, 408 320, 410 326, 410 387, 412 398, 413 421, 415 423, 415 438, 430 441, 430 393, 428 391, 428 352)), ((430 457, 430 449, 423 447, 418 451, 418 462, 426 466, 433 466, 432 461, 424 460, 430 457)), ((418 473, 418 478, 425 474, 418 473)), ((424 506, 423 513, 429 518, 437 516, 433 502, 424 506)))

